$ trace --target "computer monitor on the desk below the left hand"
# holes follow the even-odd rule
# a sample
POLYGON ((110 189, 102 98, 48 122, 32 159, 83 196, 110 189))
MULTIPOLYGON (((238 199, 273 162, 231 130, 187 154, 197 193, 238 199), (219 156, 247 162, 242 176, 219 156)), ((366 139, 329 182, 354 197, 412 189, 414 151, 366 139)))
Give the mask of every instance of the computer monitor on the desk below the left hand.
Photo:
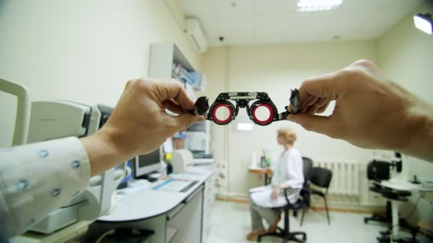
POLYGON ((142 154, 135 157, 134 171, 135 178, 142 177, 148 173, 157 171, 161 168, 162 149, 158 148, 152 153, 142 154))

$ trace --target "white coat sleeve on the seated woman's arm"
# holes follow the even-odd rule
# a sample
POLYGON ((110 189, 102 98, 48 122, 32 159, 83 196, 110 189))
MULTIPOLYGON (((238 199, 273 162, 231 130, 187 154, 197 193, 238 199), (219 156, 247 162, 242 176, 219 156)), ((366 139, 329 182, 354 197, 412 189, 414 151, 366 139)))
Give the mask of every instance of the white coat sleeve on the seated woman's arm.
POLYGON ((288 157, 288 163, 286 163, 288 180, 284 182, 284 185, 290 188, 299 189, 303 185, 303 161, 302 156, 298 151, 293 151, 288 157))

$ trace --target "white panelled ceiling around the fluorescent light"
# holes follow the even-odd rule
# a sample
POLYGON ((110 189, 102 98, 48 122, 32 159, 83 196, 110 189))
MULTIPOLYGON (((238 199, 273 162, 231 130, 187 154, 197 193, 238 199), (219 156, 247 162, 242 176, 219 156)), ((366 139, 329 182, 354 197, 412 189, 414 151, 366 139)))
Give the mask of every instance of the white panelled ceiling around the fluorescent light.
POLYGON ((343 0, 330 11, 296 11, 297 0, 177 0, 209 45, 371 40, 423 0, 343 0), (219 37, 224 41, 219 41, 219 37))

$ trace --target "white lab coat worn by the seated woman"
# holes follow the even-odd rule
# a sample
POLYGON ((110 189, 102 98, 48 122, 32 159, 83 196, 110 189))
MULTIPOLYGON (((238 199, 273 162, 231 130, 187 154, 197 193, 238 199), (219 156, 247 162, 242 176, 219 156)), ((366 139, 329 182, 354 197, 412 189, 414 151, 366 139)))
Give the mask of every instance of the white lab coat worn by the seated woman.
POLYGON ((303 161, 301 153, 296 148, 283 151, 276 164, 272 166, 273 177, 271 185, 252 188, 250 190, 251 200, 261 207, 281 207, 286 205, 283 190, 276 200, 272 200, 273 186, 285 183, 289 190, 288 200, 295 202, 298 199, 299 191, 303 185, 303 161))

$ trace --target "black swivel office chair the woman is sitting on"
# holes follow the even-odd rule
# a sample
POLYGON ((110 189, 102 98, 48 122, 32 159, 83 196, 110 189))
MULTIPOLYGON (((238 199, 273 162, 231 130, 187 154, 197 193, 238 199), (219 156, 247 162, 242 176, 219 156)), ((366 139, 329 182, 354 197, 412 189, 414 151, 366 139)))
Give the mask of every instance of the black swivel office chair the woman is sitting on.
MULTIPOLYGON (((302 189, 300 193, 301 196, 304 195, 304 193, 305 191, 302 189)), ((279 237, 283 239, 283 243, 286 243, 288 241, 299 242, 299 243, 306 242, 307 240, 306 232, 290 232, 289 213, 288 213, 289 210, 300 210, 301 208, 305 207, 306 202, 302 198, 300 198, 295 203, 291 203, 287 198, 288 196, 287 189, 284 190, 284 195, 286 196, 287 204, 283 207, 272 208, 273 210, 279 210, 284 212, 284 228, 281 229, 280 227, 277 227, 276 232, 259 235, 259 237, 257 237, 257 242, 261 242, 261 237, 267 237, 267 236, 279 237), (301 235, 302 239, 298 239, 297 238, 298 235, 301 235)))

